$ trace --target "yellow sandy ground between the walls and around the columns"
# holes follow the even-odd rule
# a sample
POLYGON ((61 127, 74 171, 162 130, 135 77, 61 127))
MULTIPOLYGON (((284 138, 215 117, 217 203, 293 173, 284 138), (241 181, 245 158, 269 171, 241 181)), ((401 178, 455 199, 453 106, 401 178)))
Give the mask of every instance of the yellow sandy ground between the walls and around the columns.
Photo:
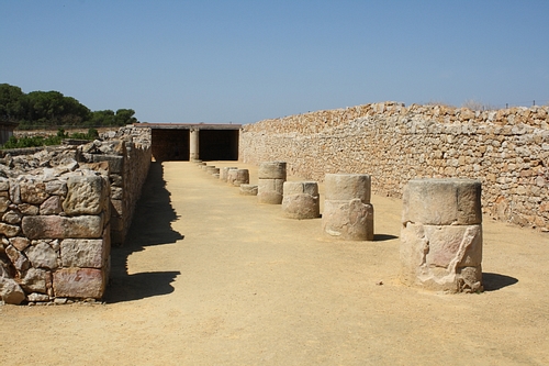
POLYGON ((0 364, 549 364, 549 234, 485 218, 486 291, 425 292, 397 280, 401 202, 372 202, 376 241, 335 242, 154 163, 105 302, 0 307, 0 364))

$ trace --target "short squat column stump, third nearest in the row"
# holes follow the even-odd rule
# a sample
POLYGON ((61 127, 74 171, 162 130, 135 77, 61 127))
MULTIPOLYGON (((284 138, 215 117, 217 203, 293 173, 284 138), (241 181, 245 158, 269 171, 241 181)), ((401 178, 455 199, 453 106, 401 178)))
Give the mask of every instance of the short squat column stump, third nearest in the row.
POLYGON ((289 219, 316 219, 321 215, 316 181, 284 181, 282 214, 289 219))

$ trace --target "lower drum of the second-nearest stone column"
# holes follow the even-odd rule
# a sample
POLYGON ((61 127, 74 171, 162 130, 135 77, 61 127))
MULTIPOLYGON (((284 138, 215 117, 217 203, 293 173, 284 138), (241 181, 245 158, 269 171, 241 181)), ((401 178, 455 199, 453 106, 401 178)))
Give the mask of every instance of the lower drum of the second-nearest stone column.
POLYGON ((334 239, 373 241, 373 206, 354 200, 325 200, 322 230, 334 239))

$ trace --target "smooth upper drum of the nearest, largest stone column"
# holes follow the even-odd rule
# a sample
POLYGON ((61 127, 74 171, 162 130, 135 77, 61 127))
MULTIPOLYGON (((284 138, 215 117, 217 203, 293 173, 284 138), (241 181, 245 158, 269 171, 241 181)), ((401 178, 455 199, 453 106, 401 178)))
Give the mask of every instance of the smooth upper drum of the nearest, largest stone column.
POLYGON ((403 223, 480 224, 481 184, 471 179, 413 179, 404 189, 403 208, 403 223))

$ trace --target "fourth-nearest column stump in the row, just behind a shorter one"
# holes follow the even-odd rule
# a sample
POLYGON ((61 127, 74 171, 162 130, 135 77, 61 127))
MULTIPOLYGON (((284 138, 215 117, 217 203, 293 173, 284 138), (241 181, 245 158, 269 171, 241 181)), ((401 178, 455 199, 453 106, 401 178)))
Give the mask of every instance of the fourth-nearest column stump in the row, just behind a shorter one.
POLYGON ((285 181, 285 162, 267 162, 259 165, 257 173, 257 199, 260 203, 282 203, 285 181))

